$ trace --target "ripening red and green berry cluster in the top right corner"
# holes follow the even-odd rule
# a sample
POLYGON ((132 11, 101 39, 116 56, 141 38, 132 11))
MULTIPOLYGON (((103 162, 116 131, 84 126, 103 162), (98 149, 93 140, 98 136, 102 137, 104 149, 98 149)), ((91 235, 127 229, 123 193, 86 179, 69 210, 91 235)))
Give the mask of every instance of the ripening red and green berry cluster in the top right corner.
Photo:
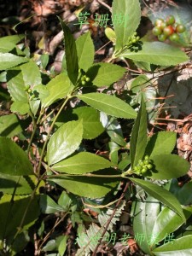
POLYGON ((157 36, 160 41, 165 41, 167 38, 173 42, 178 41, 178 33, 185 32, 186 28, 182 24, 178 24, 175 21, 176 20, 173 15, 168 16, 166 20, 155 20, 154 28, 152 30, 154 36, 157 36))

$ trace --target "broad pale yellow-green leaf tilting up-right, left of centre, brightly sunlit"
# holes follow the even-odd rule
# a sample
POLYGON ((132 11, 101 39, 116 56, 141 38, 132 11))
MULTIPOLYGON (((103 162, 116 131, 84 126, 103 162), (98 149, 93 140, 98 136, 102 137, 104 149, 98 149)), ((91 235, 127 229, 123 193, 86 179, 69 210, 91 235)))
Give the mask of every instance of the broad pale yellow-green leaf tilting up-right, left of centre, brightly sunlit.
POLYGON ((55 131, 49 140, 47 160, 53 165, 79 148, 83 136, 82 120, 67 122, 55 131))

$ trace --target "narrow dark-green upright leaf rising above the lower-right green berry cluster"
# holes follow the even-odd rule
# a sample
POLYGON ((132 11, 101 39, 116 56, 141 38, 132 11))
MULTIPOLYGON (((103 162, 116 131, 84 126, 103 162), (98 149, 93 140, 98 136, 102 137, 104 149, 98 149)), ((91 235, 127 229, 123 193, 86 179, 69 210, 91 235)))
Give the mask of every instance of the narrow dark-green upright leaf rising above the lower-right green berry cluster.
POLYGON ((130 154, 131 154, 131 168, 138 164, 138 160, 143 159, 145 147, 147 143, 147 113, 145 103, 141 102, 137 119, 131 131, 130 154))

